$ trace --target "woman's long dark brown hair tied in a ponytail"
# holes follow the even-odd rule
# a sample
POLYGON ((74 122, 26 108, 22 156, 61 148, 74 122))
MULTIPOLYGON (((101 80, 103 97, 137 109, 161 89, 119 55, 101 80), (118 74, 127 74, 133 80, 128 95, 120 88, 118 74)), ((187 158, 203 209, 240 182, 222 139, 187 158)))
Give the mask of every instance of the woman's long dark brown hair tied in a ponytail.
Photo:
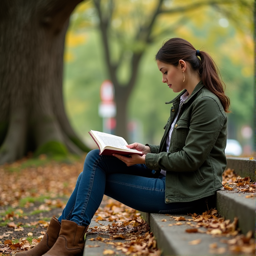
POLYGON ((179 60, 188 61, 193 70, 197 71, 204 86, 212 91, 221 101, 225 112, 230 112, 230 99, 224 93, 225 84, 219 78, 219 70, 211 56, 203 51, 198 51, 188 41, 182 38, 171 38, 158 50, 155 59, 166 64, 178 66, 179 60))

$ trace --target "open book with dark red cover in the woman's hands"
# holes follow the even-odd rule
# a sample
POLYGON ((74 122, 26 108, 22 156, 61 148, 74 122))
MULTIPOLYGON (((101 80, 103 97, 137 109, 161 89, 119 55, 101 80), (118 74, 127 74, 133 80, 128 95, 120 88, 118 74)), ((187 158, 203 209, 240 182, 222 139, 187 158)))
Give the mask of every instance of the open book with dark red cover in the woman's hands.
POLYGON ((98 145, 100 155, 143 155, 141 151, 127 148, 128 143, 122 137, 93 130, 89 131, 89 134, 98 145))

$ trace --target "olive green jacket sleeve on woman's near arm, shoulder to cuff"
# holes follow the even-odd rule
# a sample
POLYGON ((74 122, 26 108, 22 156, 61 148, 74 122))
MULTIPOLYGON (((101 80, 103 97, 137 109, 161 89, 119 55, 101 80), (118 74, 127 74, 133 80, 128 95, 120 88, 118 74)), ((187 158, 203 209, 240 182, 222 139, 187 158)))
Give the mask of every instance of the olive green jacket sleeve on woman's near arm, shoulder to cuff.
MULTIPOLYGON (((183 148, 173 153, 151 152, 146 154, 145 162, 149 169, 189 172, 197 170, 206 160, 227 117, 220 103, 217 103, 214 98, 201 97, 193 104, 189 130, 183 148)), ((171 143, 174 143, 175 139, 172 138, 171 143)))

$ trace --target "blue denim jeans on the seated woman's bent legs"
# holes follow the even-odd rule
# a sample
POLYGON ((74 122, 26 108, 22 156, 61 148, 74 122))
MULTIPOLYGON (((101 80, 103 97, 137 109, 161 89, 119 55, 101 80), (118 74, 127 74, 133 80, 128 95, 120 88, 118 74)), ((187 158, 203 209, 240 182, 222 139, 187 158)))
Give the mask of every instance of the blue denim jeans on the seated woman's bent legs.
MULTIPOLYGON (((194 202, 165 203, 165 176, 153 174, 146 165, 126 166, 113 156, 90 151, 84 162, 61 219, 88 226, 94 213, 107 195, 133 209, 150 213, 188 213, 194 202)), ((192 211, 193 213, 193 211, 192 211)))

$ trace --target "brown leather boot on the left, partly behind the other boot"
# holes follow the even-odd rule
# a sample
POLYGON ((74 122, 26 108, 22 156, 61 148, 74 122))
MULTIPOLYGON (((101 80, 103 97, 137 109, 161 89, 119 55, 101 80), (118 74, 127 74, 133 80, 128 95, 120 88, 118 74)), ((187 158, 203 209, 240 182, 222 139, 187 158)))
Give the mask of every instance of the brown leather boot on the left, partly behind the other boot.
POLYGON ((55 244, 59 231, 61 230, 61 224, 55 216, 52 216, 50 224, 47 228, 44 237, 35 247, 28 251, 21 251, 20 253, 16 253, 16 256, 42 256, 44 253, 50 250, 55 244))

